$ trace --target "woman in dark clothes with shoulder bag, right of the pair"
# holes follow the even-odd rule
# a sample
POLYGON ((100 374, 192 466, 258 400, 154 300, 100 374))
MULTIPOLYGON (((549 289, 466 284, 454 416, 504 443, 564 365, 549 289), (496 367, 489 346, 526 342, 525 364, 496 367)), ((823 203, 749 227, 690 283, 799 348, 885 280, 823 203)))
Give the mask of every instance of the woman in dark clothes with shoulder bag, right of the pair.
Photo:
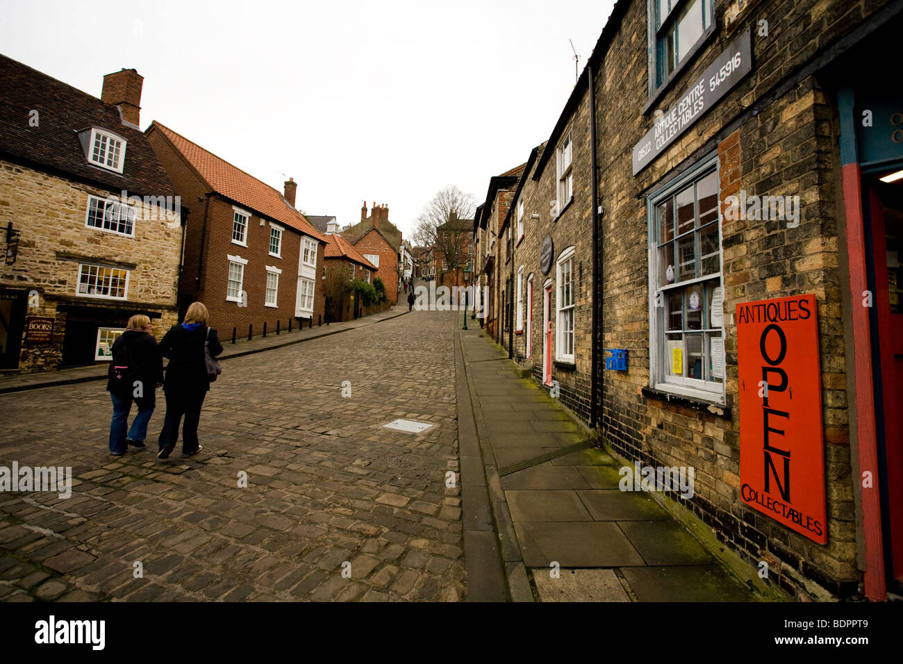
POLYGON ((185 313, 185 320, 173 325, 160 341, 160 351, 170 358, 163 381, 166 395, 166 418, 160 432, 158 459, 166 459, 175 448, 182 427, 182 456, 191 456, 201 450, 198 444, 200 407, 210 388, 210 379, 204 360, 204 342, 208 342, 210 354, 217 357, 223 351, 217 331, 207 326, 209 313, 200 302, 192 303, 185 313))

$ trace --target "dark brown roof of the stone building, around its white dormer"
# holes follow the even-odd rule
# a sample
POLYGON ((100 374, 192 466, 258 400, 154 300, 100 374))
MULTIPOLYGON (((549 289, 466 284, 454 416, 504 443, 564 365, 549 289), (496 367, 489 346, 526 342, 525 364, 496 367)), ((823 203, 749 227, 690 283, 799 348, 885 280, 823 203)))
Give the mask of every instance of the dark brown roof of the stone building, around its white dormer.
POLYGON ((0 55, 0 157, 111 192, 175 195, 144 134, 123 124, 116 106, 5 55, 0 55), (32 110, 38 112, 37 126, 29 122, 32 110), (122 173, 88 162, 78 132, 92 126, 126 139, 122 173))

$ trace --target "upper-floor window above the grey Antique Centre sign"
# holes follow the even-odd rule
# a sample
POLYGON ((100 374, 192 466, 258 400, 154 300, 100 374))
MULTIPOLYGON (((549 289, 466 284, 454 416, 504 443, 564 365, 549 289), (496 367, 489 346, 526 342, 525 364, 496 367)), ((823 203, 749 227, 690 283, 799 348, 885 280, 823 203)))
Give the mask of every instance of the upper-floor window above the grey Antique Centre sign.
POLYGON ((652 40, 655 72, 652 91, 661 88, 678 67, 700 47, 712 26, 714 0, 652 0, 649 25, 655 30, 652 40))

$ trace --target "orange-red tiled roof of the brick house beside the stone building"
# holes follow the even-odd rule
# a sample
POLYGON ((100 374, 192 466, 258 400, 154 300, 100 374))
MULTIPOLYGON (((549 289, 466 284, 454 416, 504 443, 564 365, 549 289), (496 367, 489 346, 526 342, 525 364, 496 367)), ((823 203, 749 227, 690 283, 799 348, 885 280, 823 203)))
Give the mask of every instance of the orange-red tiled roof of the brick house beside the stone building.
POLYGON ((247 205, 262 217, 281 221, 286 226, 300 230, 305 235, 323 242, 326 241, 326 238, 314 229, 308 220, 304 219, 303 214, 289 206, 282 193, 270 185, 260 182, 256 177, 248 175, 240 168, 229 164, 225 159, 219 158, 216 154, 205 150, 156 120, 151 123, 147 131, 151 131, 154 127, 159 129, 163 136, 166 136, 170 143, 182 153, 191 167, 207 181, 213 191, 221 193, 241 205, 247 205))

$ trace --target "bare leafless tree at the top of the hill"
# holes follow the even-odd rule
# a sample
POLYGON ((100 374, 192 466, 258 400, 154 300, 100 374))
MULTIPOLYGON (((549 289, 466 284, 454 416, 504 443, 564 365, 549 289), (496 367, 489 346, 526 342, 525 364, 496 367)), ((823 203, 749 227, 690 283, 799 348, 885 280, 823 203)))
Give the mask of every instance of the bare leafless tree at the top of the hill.
POLYGON ((446 187, 424 206, 414 226, 414 241, 421 247, 435 247, 444 258, 447 271, 467 263, 467 248, 473 232, 472 220, 476 203, 470 193, 458 187, 446 187))

